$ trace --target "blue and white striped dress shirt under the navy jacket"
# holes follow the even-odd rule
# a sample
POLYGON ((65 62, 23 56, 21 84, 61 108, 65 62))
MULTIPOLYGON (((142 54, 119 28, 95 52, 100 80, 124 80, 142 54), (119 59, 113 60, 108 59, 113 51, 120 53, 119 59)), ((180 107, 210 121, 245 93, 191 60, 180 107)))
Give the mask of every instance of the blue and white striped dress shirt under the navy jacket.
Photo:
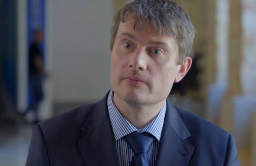
POLYGON ((108 112, 112 130, 115 137, 117 153, 119 155, 120 165, 129 166, 130 161, 133 157, 133 151, 125 141, 124 137, 131 132, 148 132, 152 134, 155 139, 149 147, 148 158, 151 166, 155 165, 157 151, 159 147, 159 141, 164 124, 164 116, 166 112, 166 101, 163 108, 159 111, 157 116, 150 122, 146 127, 137 129, 133 126, 122 114, 117 110, 115 103, 113 102, 113 90, 110 90, 108 95, 108 112))

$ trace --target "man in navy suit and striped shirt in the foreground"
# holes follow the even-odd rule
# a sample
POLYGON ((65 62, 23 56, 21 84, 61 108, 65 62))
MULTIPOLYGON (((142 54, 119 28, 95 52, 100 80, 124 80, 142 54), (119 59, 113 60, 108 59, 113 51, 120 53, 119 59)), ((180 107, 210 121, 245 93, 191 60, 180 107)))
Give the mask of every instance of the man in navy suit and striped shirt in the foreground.
POLYGON ((111 29, 110 84, 98 103, 40 122, 30 165, 239 165, 230 133, 170 105, 188 72, 194 28, 170 0, 135 0, 111 29))

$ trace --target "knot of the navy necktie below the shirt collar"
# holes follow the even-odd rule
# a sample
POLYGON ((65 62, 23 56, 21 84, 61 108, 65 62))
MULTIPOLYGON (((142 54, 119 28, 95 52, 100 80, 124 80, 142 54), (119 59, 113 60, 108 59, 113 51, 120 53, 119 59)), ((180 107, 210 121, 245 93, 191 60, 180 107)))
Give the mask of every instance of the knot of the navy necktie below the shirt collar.
POLYGON ((138 153, 147 153, 150 145, 152 144, 154 137, 146 132, 132 132, 129 135, 125 136, 124 139, 136 154, 138 153))

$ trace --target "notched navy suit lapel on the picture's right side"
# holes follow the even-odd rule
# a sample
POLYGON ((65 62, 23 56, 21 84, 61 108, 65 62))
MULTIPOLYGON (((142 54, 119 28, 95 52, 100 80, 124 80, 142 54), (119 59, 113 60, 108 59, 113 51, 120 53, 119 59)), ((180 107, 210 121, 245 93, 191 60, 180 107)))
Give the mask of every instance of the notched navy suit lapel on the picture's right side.
POLYGON ((156 166, 189 165, 194 146, 185 139, 190 136, 177 110, 167 102, 156 166))

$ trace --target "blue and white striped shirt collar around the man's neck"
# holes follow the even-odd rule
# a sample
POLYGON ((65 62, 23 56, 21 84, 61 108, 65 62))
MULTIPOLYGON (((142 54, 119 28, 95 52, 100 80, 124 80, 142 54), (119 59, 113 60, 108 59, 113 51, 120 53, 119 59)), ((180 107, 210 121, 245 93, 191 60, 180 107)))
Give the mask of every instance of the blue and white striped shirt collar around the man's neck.
POLYGON ((117 141, 118 139, 128 135, 129 133, 137 131, 148 132, 155 136, 158 141, 160 141, 164 124, 164 116, 166 112, 166 101, 164 102, 163 108, 159 111, 159 113, 152 120, 152 122, 147 124, 147 126, 145 126, 144 128, 137 129, 118 111, 113 101, 113 94, 114 91, 111 89, 108 95, 107 104, 115 140, 117 141))

